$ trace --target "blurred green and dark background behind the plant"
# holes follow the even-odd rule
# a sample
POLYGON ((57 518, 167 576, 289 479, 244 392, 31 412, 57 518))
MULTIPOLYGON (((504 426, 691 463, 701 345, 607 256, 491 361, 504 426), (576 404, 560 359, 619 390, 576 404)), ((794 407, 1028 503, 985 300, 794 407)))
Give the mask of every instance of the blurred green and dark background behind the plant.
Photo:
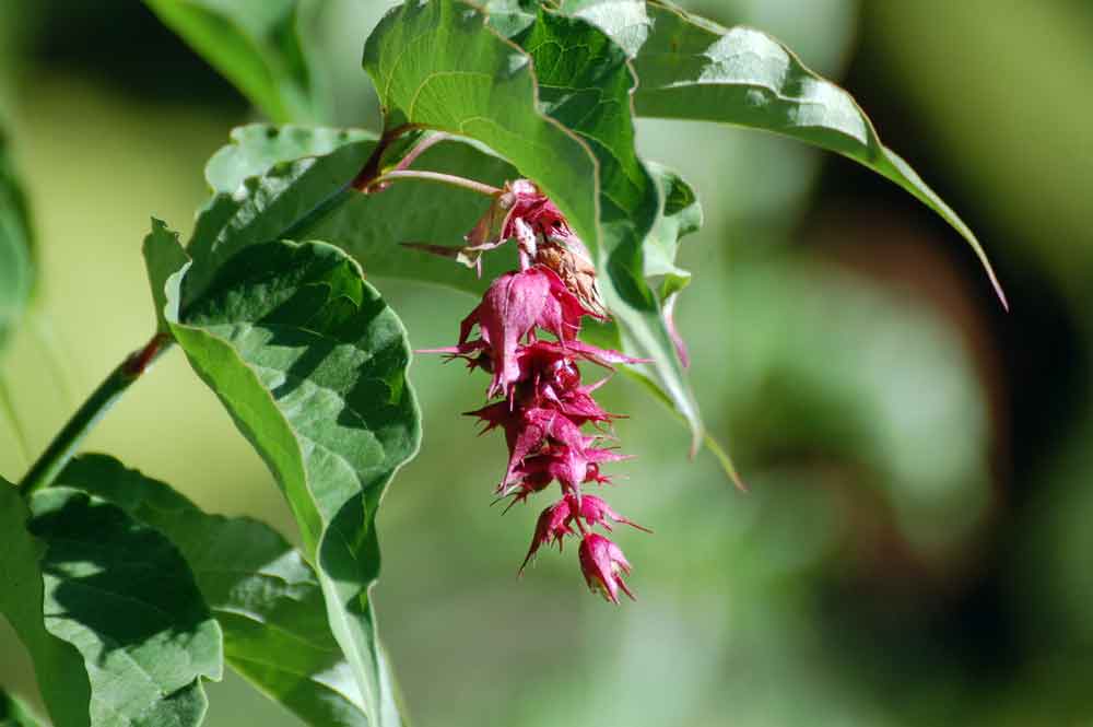
MULTIPOLYGON (((359 68, 389 2, 330 0, 313 28, 337 121, 376 127, 359 68)), ((521 581, 537 507, 489 507, 500 438, 461 411, 481 377, 420 357, 425 444, 388 493, 377 589, 414 724, 1093 724, 1093 4, 707 0, 842 80, 965 218, 957 235, 849 162, 727 128, 642 122, 706 226, 678 309, 694 385, 751 485, 732 489, 643 392, 606 403, 638 458, 609 493, 640 601, 589 596, 568 551, 521 581)), ((36 213, 39 305, 2 374, 31 454, 153 326, 149 216, 188 230, 205 159, 254 120, 140 3, 36 0, 0 16, 3 112, 36 213)), ((399 242, 399 241, 392 241, 399 242)), ((447 243, 453 241, 435 241, 447 243)), ((366 261, 365 261, 365 267, 366 261)), ((419 348, 473 302, 376 281, 419 348)), ((258 457, 180 353, 89 449, 210 511, 290 535, 258 457)), ((0 474, 26 453, 0 433, 0 474)), ((33 672, 0 621, 0 683, 33 672)), ((291 725, 228 678, 213 727, 291 725)))

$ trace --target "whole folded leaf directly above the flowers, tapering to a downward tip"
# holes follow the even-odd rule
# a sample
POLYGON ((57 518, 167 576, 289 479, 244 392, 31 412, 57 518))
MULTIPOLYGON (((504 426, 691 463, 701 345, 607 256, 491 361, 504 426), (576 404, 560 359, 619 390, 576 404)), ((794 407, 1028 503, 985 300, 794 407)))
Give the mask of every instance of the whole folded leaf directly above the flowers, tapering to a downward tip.
POLYGON ((521 42, 539 56, 541 86, 531 57, 471 5, 408 2, 388 14, 364 52, 386 127, 414 124, 477 139, 550 195, 596 255, 623 348, 654 361, 650 373, 697 443, 697 406, 644 278, 642 245, 660 200, 633 150, 626 54, 580 19, 541 12, 521 42))

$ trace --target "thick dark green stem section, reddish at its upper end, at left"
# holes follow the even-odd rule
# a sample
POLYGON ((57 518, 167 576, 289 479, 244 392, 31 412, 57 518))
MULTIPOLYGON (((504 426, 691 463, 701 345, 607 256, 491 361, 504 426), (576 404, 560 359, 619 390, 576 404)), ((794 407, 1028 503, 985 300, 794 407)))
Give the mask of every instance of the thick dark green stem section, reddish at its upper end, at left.
POLYGON ((141 377, 152 362, 169 348, 171 343, 171 337, 156 333, 144 348, 129 354, 110 372, 110 375, 77 409, 64 427, 57 433, 37 461, 31 466, 30 471, 19 483, 19 493, 28 497, 35 491, 52 484, 72 458, 75 448, 103 414, 141 377))

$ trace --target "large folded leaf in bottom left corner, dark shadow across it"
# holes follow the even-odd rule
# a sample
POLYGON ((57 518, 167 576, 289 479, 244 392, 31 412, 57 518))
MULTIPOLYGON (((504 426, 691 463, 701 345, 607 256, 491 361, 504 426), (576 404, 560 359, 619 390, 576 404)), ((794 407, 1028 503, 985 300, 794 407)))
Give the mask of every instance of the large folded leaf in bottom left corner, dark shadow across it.
POLYGON ((58 727, 199 725, 221 633, 174 546, 69 488, 34 494, 30 514, 0 482, 0 610, 58 727))

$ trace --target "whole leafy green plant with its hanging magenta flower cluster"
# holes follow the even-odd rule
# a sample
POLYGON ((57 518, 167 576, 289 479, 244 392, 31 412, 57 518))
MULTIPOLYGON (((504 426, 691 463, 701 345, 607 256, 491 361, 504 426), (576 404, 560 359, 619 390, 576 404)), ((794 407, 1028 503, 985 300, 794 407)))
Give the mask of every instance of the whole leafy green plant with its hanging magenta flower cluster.
MULTIPOLYGON (((633 597, 631 563, 597 531, 646 529, 600 496, 626 456, 599 387, 613 372, 642 382, 738 479, 703 427, 672 320, 690 279, 679 241, 701 208, 637 155, 637 117, 773 131, 855 160, 947 220, 1001 295, 972 232, 854 99, 759 31, 665 0, 409 0, 364 40, 383 108, 373 133, 322 126, 328 84, 297 0, 145 2, 269 122, 235 129, 209 161, 185 244, 153 220, 154 333, 17 485, 0 483, 0 613, 58 727, 198 725, 225 664, 305 724, 403 724, 371 588, 377 511, 421 415, 410 333, 364 271, 479 298, 455 344, 430 351, 490 378, 470 413, 505 436, 496 496, 512 506, 557 483, 520 572, 572 538, 593 590, 633 597), (77 456, 175 348, 269 467, 298 548, 117 459, 77 456)), ((10 156, 4 141, 0 345, 33 302, 38 260, 10 156)), ((0 708, 37 724, 2 692, 0 708)))

